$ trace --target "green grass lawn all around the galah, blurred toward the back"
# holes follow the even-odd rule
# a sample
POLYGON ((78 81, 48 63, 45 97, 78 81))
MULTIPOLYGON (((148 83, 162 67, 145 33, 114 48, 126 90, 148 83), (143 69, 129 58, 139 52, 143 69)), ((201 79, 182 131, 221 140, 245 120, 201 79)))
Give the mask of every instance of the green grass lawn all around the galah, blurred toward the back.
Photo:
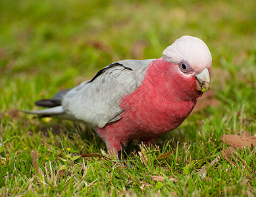
POLYGON ((256 194, 255 148, 238 150, 232 163, 220 158, 209 165, 226 147, 223 134, 255 134, 253 0, 0 0, 0 13, 1 196, 256 194), (106 151, 89 127, 15 111, 35 110, 34 101, 90 79, 113 61, 158 58, 181 35, 207 43, 215 93, 208 102, 219 106, 193 113, 157 146, 130 142, 120 161, 82 158, 106 151), (203 166, 205 177, 198 173, 203 166))

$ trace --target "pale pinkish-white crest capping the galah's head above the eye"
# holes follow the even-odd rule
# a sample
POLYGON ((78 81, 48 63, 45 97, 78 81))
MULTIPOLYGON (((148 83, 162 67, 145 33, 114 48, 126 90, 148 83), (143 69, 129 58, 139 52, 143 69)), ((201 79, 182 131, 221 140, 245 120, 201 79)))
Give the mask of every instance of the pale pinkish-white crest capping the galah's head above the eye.
POLYGON ((185 60, 197 73, 204 68, 211 70, 211 53, 207 45, 197 37, 184 35, 176 39, 163 51, 163 57, 172 64, 179 64, 185 60))

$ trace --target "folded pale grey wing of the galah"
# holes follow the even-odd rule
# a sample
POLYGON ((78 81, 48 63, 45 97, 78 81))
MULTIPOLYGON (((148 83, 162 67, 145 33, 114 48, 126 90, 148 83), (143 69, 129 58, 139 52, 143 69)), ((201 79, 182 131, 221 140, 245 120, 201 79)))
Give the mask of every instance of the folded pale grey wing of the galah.
POLYGON ((100 70, 90 81, 68 91, 62 100, 67 114, 93 126, 104 127, 120 119, 120 100, 133 93, 151 60, 122 60, 100 70))

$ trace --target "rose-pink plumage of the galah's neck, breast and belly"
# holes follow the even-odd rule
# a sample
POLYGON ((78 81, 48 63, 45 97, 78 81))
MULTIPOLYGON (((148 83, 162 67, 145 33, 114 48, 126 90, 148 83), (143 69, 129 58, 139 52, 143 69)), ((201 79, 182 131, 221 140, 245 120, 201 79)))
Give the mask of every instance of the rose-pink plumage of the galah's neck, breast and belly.
POLYGON ((195 79, 183 81, 176 67, 170 66, 176 65, 161 58, 155 60, 147 69, 140 87, 122 98, 120 108, 124 112, 120 120, 99 129, 99 135, 102 132, 108 139, 125 144, 132 139, 153 139, 178 127, 192 112, 197 91, 190 92, 187 87, 188 82, 196 87, 195 79), (191 98, 185 98, 188 95, 191 98))

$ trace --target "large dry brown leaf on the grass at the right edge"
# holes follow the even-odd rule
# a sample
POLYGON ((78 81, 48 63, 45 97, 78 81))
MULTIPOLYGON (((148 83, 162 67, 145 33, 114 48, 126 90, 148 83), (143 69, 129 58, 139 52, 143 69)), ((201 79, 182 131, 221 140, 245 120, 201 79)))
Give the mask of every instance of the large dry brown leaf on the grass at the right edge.
POLYGON ((251 149, 251 144, 253 147, 256 146, 256 137, 246 137, 240 135, 223 135, 222 141, 226 144, 233 146, 234 148, 243 148, 243 146, 248 146, 251 149))

